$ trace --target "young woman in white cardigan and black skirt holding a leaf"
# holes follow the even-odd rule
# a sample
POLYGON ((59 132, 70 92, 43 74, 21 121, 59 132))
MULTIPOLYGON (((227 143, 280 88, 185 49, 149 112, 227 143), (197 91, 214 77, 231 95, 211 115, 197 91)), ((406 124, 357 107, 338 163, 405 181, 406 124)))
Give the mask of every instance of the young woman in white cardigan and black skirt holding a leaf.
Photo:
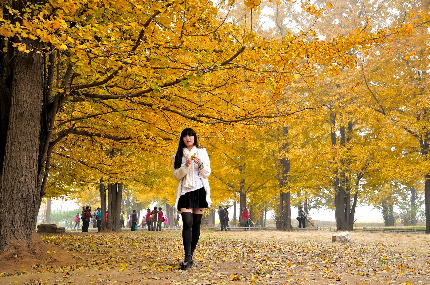
POLYGON ((185 254, 179 269, 187 270, 194 264, 193 254, 200 237, 203 210, 212 205, 208 182, 211 168, 206 149, 200 148, 196 132, 190 128, 182 131, 178 151, 172 159, 173 177, 178 180, 175 209, 181 211, 185 254))

